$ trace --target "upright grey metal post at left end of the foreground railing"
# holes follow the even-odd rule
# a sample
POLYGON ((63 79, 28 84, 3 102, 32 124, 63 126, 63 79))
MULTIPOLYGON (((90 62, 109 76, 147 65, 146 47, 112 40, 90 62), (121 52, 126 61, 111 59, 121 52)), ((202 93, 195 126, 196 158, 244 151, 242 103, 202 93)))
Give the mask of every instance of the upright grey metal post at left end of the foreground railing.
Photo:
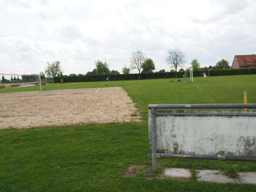
POLYGON ((152 170, 157 170, 157 139, 156 139, 156 111, 151 108, 151 150, 152 150, 152 170))

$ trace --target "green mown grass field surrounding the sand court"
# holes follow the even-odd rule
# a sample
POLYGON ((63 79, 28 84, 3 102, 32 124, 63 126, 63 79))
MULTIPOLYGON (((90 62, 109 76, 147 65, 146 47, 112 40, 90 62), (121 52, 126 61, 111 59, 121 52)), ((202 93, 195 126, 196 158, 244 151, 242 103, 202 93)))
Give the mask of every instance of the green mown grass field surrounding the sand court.
MULTIPOLYGON (((215 76, 208 81, 177 79, 111 81, 123 87, 143 114, 143 122, 0 131, 0 191, 256 191, 249 184, 124 177, 131 164, 148 157, 148 104, 256 103, 256 75, 215 76), (173 80, 175 82, 170 82, 173 80)), ((105 87, 105 82, 49 84, 45 90, 105 87)), ((39 87, 8 87, 0 93, 39 87)), ((1 96, 0 96, 1 97, 1 96)), ((163 167, 256 171, 256 163, 159 159, 163 167)))

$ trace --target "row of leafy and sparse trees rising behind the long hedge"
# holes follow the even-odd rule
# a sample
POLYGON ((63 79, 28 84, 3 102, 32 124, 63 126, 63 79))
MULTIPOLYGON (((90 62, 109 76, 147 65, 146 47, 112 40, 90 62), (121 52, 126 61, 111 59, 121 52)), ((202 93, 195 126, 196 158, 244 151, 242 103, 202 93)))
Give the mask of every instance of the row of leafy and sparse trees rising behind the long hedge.
MULTIPOLYGON (((171 72, 177 73, 177 68, 183 67, 186 62, 186 54, 178 47, 174 49, 170 49, 168 51, 166 62, 171 67, 171 72)), ((208 70, 209 67, 200 68, 200 63, 197 59, 193 59, 191 61, 191 67, 193 70, 208 70)), ((229 62, 225 59, 218 61, 215 66, 212 67, 212 70, 219 70, 219 69, 230 69, 229 62)), ((136 69, 138 70, 139 74, 141 73, 154 73, 155 70, 155 63, 151 58, 147 58, 145 53, 140 50, 131 53, 130 57, 130 65, 122 67, 123 74, 129 74, 131 70, 136 69)), ((165 70, 160 70, 159 72, 166 72, 165 70)), ((54 61, 53 63, 47 62, 47 67, 45 68, 45 74, 48 77, 55 77, 55 76, 67 76, 62 74, 61 62, 54 61)), ((156 72, 157 73, 157 72, 156 72)), ((92 71, 88 71, 86 74, 70 74, 69 76, 91 76, 91 75, 116 75, 120 74, 117 70, 110 70, 109 65, 107 62, 103 62, 100 60, 95 61, 95 68, 92 71)))

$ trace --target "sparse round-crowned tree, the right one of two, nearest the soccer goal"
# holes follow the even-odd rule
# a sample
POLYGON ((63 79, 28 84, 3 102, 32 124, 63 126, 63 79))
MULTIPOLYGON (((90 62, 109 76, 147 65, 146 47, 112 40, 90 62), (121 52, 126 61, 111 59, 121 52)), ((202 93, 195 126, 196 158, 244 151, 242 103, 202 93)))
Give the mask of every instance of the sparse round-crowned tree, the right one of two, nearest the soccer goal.
POLYGON ((177 67, 182 67, 182 65, 186 62, 185 53, 180 50, 178 47, 171 49, 168 51, 168 56, 166 57, 166 61, 171 65, 172 68, 175 68, 175 73, 177 77, 177 67))

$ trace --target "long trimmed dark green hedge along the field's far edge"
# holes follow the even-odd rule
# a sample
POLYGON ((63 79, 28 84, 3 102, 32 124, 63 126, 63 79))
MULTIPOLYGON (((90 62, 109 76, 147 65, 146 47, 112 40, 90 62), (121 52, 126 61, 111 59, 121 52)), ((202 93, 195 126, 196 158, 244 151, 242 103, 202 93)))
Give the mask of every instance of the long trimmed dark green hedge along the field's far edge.
MULTIPOLYGON (((208 75, 208 71, 205 71, 208 75)), ((193 71, 193 76, 201 76, 203 71, 193 71)), ((256 74, 256 69, 236 69, 236 70, 210 70, 210 76, 230 76, 230 75, 246 75, 256 74)), ((177 72, 177 77, 182 78, 184 72, 177 72)), ((68 82, 89 82, 89 81, 105 81, 109 76, 111 81, 119 80, 136 80, 136 79, 161 79, 161 78, 175 78, 175 72, 169 73, 141 73, 139 74, 119 74, 119 75, 98 75, 98 76, 64 76, 64 83, 68 82)), ((54 78, 55 83, 60 83, 60 77, 54 78)))

